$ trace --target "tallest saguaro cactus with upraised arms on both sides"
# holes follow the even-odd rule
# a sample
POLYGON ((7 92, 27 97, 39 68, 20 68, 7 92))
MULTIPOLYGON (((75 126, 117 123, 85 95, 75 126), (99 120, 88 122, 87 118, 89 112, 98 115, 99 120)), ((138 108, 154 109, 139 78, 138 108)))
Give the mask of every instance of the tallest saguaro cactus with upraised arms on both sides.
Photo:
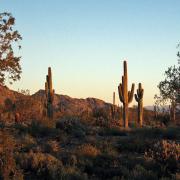
POLYGON ((128 105, 133 100, 134 86, 132 84, 131 91, 128 91, 127 62, 124 61, 124 75, 122 76, 122 83, 118 86, 118 91, 119 99, 123 103, 123 126, 125 128, 128 128, 128 105))

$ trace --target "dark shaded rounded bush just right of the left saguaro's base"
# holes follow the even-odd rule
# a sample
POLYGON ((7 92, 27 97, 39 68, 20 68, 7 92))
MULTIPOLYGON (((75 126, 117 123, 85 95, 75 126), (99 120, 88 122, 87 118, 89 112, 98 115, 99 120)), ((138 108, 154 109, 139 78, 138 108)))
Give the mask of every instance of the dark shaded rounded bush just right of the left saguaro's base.
POLYGON ((56 128, 75 137, 84 138, 89 128, 76 117, 62 118, 56 123, 56 128))

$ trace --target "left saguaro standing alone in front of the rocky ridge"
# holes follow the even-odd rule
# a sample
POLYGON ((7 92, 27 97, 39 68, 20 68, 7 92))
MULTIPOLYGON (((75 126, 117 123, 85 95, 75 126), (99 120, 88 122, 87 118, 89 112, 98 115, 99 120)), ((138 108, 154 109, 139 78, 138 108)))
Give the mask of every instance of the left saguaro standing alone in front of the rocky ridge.
POLYGON ((48 118, 53 118, 54 89, 52 88, 51 68, 48 68, 48 75, 45 82, 46 110, 48 118))

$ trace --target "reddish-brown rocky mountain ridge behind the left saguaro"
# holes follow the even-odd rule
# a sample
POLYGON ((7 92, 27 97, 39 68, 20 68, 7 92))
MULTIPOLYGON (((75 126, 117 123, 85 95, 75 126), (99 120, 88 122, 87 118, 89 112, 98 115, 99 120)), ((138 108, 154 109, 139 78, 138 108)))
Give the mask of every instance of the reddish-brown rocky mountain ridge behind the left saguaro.
MULTIPOLYGON (((111 104, 100 99, 87 98, 77 99, 67 95, 55 94, 54 97, 55 117, 80 116, 83 113, 92 113, 97 109, 111 111, 111 104)), ((45 91, 39 90, 33 95, 24 95, 0 85, 0 112, 18 112, 27 119, 39 119, 45 110, 45 91), (10 105, 9 105, 9 104, 10 105)))

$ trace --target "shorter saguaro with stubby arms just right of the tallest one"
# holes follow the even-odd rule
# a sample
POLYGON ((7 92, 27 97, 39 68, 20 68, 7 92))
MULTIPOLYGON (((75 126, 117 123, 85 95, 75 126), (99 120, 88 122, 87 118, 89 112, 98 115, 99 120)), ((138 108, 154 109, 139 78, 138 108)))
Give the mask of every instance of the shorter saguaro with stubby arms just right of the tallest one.
POLYGON ((143 125, 143 95, 144 95, 144 89, 142 88, 142 84, 139 83, 139 87, 137 89, 137 94, 135 94, 135 100, 138 102, 138 124, 139 124, 139 126, 143 125))

